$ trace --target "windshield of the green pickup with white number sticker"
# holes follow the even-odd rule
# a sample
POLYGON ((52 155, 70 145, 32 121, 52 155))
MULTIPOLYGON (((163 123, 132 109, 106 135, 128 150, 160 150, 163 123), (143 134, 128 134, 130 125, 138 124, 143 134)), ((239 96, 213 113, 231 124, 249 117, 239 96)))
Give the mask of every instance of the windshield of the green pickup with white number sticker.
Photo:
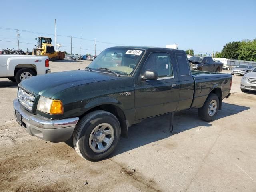
POLYGON ((88 67, 92 69, 108 68, 120 75, 130 76, 142 58, 144 50, 110 48, 97 56, 88 67))

